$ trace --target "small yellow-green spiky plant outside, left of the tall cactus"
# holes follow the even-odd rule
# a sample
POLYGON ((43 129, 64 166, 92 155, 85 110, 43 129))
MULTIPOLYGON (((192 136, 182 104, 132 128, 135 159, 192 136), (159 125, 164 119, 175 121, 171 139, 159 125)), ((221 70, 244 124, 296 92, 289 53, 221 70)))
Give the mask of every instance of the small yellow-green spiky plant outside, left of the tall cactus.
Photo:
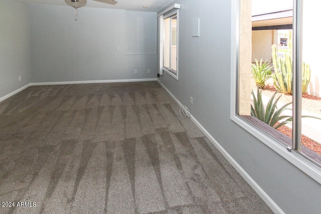
POLYGON ((255 85, 258 86, 260 89, 265 88, 265 81, 271 78, 271 66, 269 65, 270 62, 265 62, 262 64, 262 59, 260 63, 255 58, 255 64, 252 63, 252 79, 255 81, 255 85))

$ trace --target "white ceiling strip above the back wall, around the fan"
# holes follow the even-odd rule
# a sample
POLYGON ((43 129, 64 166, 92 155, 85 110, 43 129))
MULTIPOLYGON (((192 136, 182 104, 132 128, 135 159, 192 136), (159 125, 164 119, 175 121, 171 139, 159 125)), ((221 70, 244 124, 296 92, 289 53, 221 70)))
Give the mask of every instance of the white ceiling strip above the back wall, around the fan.
MULTIPOLYGON (((20 0, 29 4, 39 5, 60 5, 67 6, 65 0, 20 0)), ((70 1, 70 0, 69 0, 70 1)), ((87 4, 84 7, 88 8, 109 8, 120 9, 128 11, 146 11, 146 12, 158 12, 164 7, 169 5, 173 0, 115 0, 116 5, 104 4, 92 0, 87 0, 87 4), (147 8, 143 8, 147 6, 147 8)), ((68 6, 70 7, 70 6, 68 6)))

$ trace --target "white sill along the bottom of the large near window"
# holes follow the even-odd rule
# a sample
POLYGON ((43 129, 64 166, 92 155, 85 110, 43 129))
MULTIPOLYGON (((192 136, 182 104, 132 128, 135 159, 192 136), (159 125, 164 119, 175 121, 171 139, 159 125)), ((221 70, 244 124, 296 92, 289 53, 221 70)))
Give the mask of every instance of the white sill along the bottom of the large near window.
MULTIPOLYGON (((287 161, 295 165, 297 168, 299 168, 301 171, 309 175, 311 178, 313 178, 316 182, 321 184, 321 168, 317 166, 316 164, 312 163, 311 161, 307 160, 302 155, 298 154, 294 150, 287 150, 287 145, 284 145, 280 142, 278 142, 276 139, 282 138, 284 139, 284 136, 281 136, 277 131, 275 131, 272 127, 263 124, 262 122, 258 122, 255 119, 251 118, 251 122, 256 124, 258 123, 258 127, 264 126, 264 130, 267 129, 270 132, 275 133, 273 135, 276 139, 274 139, 269 134, 262 131, 260 128, 256 127, 256 125, 248 122, 246 119, 244 119, 241 116, 235 115, 232 116, 231 119, 240 125, 242 128, 244 128, 246 131, 251 133, 253 136, 255 136, 257 139, 262 141, 264 144, 266 144, 268 147, 270 147, 273 151, 281 155, 283 158, 285 158, 287 161)), ((291 144, 291 139, 285 139, 285 143, 291 144)))

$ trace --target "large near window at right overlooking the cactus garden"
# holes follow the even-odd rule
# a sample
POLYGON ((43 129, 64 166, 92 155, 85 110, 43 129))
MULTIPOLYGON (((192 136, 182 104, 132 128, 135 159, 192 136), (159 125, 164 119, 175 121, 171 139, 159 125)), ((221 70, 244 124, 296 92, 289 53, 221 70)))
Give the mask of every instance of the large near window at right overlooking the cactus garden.
POLYGON ((312 0, 234 4, 231 119, 321 183, 321 73, 314 56, 321 45, 311 24, 318 7, 312 0), (268 110, 279 115, 272 120, 268 110))

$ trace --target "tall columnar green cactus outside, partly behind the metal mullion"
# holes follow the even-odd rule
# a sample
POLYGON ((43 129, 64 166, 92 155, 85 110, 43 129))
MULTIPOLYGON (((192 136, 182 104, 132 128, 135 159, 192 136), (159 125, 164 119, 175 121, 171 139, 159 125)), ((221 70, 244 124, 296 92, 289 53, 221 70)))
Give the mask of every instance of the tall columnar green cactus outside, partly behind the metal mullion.
MULTIPOLYGON (((277 91, 283 94, 292 94, 292 33, 289 34, 289 53, 285 53, 284 59, 277 57, 277 46, 272 45, 272 62, 274 74, 272 74, 273 84, 277 91)), ((302 94, 305 93, 310 83, 310 66, 303 62, 302 65, 302 94)))

